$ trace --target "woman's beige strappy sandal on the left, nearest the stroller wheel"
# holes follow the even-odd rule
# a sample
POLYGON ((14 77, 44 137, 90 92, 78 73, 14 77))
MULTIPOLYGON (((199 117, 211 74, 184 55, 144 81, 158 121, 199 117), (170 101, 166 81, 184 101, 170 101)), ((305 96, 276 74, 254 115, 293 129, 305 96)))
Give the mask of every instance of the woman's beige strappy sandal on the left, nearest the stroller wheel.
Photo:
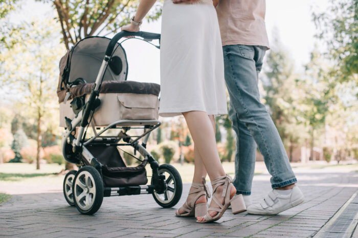
POLYGON ((205 177, 203 177, 202 179, 203 179, 202 183, 193 182, 191 184, 191 187, 193 187, 195 189, 190 191, 189 194, 196 193, 196 196, 193 199, 191 199, 191 201, 189 201, 189 202, 188 202, 188 200, 185 201, 185 205, 187 207, 184 207, 184 206, 181 207, 181 209, 184 210, 185 213, 180 214, 179 210, 177 210, 177 211, 175 211, 176 216, 178 216, 178 217, 193 217, 193 216, 197 217, 197 216, 199 216, 200 217, 200 216, 204 216, 207 213, 207 211, 208 211, 207 202, 195 204, 196 200, 203 195, 206 196, 207 201, 208 201, 208 198, 210 198, 210 191, 209 191, 208 186, 206 185, 205 177))

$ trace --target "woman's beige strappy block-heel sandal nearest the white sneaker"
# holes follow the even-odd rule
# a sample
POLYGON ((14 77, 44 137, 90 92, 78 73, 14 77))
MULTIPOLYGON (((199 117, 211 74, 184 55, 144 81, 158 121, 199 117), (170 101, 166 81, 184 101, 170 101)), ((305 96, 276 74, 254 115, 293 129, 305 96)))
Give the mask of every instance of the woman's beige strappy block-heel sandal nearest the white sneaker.
POLYGON ((225 210, 228 209, 230 204, 233 214, 242 213, 243 211, 246 210, 245 202, 241 194, 236 196, 234 195, 233 198, 230 198, 231 187, 234 186, 232 182, 233 179, 228 174, 225 176, 217 177, 211 181, 211 184, 213 186, 213 194, 215 193, 216 189, 219 186, 223 185, 221 197, 225 197, 225 202, 224 204, 221 204, 221 202, 219 202, 218 199, 213 195, 212 199, 219 206, 219 208, 209 207, 207 214, 204 216, 205 220, 204 221, 197 220, 196 222, 208 223, 208 222, 214 222, 219 220, 222 217, 222 215, 225 213, 225 210), (211 217, 209 211, 217 211, 217 214, 214 217, 211 217))

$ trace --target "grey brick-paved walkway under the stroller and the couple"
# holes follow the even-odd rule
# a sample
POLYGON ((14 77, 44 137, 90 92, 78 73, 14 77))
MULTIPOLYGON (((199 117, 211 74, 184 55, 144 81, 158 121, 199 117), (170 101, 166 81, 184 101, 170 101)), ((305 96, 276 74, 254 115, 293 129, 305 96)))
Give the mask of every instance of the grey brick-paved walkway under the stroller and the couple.
MULTIPOLYGON (((65 202, 62 193, 24 194, 14 195, 10 201, 1 204, 0 236, 311 237, 323 227, 318 233, 321 237, 358 237, 358 228, 354 231, 354 224, 358 222, 358 199, 354 198, 358 190, 358 173, 322 170, 295 172, 306 201, 277 216, 232 215, 228 210, 218 222, 212 224, 198 224, 194 218, 175 217, 174 211, 185 201, 189 184, 185 184, 182 200, 174 208, 161 208, 151 195, 109 197, 104 198, 94 216, 80 215, 75 207, 65 202), (356 205, 355 208, 353 205, 356 205), (342 209, 346 206, 350 208, 340 210, 342 206, 342 209), (337 211, 338 215, 344 215, 347 210, 353 212, 355 220, 350 220, 349 226, 340 225, 340 231, 330 229, 333 233, 329 233, 329 227, 324 226, 327 221, 328 225, 334 223, 337 215, 333 216, 337 211)), ((267 174, 255 176, 254 200, 270 191, 269 179, 267 174)), ((347 223, 347 219, 344 221, 347 223)))

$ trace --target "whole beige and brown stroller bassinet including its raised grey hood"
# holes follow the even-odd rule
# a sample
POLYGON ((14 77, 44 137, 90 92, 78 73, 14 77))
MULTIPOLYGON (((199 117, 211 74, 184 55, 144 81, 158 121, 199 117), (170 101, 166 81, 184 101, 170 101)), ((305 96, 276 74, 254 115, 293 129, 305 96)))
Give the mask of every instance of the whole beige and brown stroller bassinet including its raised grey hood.
MULTIPOLYGON (((72 120, 88 101, 109 41, 105 37, 84 38, 62 57, 57 89, 61 127, 66 127, 65 118, 72 120)), ((103 77, 101 107, 93 114, 94 125, 106 126, 121 119, 158 119, 160 86, 126 81, 127 71, 126 54, 118 44, 103 77)))

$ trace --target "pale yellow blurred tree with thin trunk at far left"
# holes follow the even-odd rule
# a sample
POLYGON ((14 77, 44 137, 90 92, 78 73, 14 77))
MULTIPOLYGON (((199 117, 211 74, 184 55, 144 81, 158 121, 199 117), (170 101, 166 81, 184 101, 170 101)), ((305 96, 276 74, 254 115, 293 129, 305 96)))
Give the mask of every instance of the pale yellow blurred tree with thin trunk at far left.
MULTIPOLYGON (((27 40, 19 41, 14 47, 1 52, 1 57, 5 59, 1 68, 5 73, 0 75, 0 81, 21 93, 21 114, 27 117, 27 121, 34 119, 33 124, 36 125, 37 169, 40 167, 42 133, 48 127, 46 124, 53 124, 56 121, 53 117, 58 115, 54 92, 58 57, 62 55, 63 48, 58 42, 60 37, 56 34, 58 30, 55 25, 51 19, 23 23, 21 34, 27 40)), ((16 123, 20 123, 20 120, 15 121, 14 126, 16 123)))

